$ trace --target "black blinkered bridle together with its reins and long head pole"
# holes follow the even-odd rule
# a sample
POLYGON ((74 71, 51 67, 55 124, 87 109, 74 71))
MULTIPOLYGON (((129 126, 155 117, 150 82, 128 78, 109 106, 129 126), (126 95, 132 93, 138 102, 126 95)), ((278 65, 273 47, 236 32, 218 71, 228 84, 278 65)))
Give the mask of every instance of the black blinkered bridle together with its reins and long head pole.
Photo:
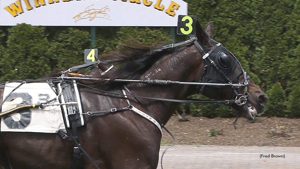
MULTIPOLYGON (((248 96, 248 79, 250 76, 247 75, 247 73, 244 71, 244 69, 241 66, 241 63, 236 59, 236 57, 229 52, 226 48, 224 48, 220 43, 217 41, 214 41, 211 39, 211 41, 214 44, 214 47, 211 48, 208 52, 205 52, 205 50, 201 47, 199 42, 197 41, 197 38, 194 36, 190 36, 189 40, 182 41, 176 44, 170 44, 166 45, 160 49, 155 49, 150 52, 157 52, 157 51, 164 51, 167 49, 172 49, 181 45, 185 44, 190 44, 193 43, 196 45, 200 53, 202 54, 202 59, 205 61, 205 67, 204 67, 204 72, 201 76, 201 79, 199 82, 179 82, 179 81, 170 81, 170 80, 132 80, 132 79, 114 79, 115 82, 122 82, 122 83, 145 83, 145 84, 156 84, 156 85, 170 85, 170 84, 191 84, 191 85, 202 85, 202 88, 199 89, 199 93, 202 94, 204 90, 209 90, 209 89, 218 89, 222 88, 223 86, 231 86, 233 88, 234 93, 232 94, 231 100, 174 100, 174 99, 164 99, 164 98, 151 98, 151 97, 140 97, 144 99, 152 99, 152 100, 160 100, 160 101, 168 101, 168 102, 178 102, 178 103, 219 103, 219 104, 226 104, 228 105, 229 108, 231 108, 231 105, 233 103, 236 103, 238 105, 244 105, 247 102, 247 96, 248 96), (215 60, 215 57, 217 55, 223 52, 226 55, 230 56, 233 61, 235 61, 235 66, 231 66, 231 69, 227 69, 220 64, 218 64, 217 60, 215 60), (230 73, 233 72, 235 67, 239 65, 241 67, 241 72, 234 77, 233 79, 229 78, 230 73), (243 75, 244 80, 241 81, 240 83, 234 83, 234 79, 238 79, 241 75, 243 75), (218 76, 218 77, 217 77, 218 76), (212 80, 211 80, 212 79, 212 80), (244 94, 238 94, 236 91, 236 88, 240 88, 244 86, 245 87, 245 92, 244 94)), ((79 69, 86 68, 88 67, 88 70, 91 69, 93 66, 97 66, 99 63, 110 63, 110 62, 115 62, 115 61, 120 61, 120 60, 104 60, 100 61, 97 60, 95 62, 90 62, 90 63, 85 63, 83 65, 79 66, 73 66, 70 69, 62 72, 63 75, 67 74, 74 74, 72 72, 76 72, 79 69)), ((226 65, 225 65, 226 66, 226 65)), ((111 67, 109 68, 111 69, 111 67)), ((106 71, 105 71, 106 72, 106 71)), ((74 74, 75 75, 75 74, 74 74)), ((81 75, 81 74, 77 74, 81 75)), ((81 77, 67 77, 67 76, 62 76, 60 78, 66 79, 66 80, 81 80, 81 81, 97 81, 99 80, 98 78, 92 78, 90 76, 81 76, 81 77)), ((111 79, 102 79, 102 80, 111 80, 111 79)), ((88 86, 86 86, 88 87, 88 86)), ((100 91, 100 90, 99 90, 100 91)), ((101 90, 102 91, 102 90, 101 90)), ((103 91, 105 93, 109 93, 106 91, 103 91)), ((138 97, 138 96, 136 96, 138 97)))

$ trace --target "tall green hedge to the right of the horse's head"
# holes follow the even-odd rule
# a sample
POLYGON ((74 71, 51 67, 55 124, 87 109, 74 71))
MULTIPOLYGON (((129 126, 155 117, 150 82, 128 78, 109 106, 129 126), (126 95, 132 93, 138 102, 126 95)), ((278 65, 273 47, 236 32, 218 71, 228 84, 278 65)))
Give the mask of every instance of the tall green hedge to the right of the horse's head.
POLYGON ((294 83, 300 78, 300 1, 186 2, 189 14, 201 18, 202 27, 214 21, 214 39, 235 54, 268 94, 265 115, 300 117, 296 113, 298 85, 294 83))

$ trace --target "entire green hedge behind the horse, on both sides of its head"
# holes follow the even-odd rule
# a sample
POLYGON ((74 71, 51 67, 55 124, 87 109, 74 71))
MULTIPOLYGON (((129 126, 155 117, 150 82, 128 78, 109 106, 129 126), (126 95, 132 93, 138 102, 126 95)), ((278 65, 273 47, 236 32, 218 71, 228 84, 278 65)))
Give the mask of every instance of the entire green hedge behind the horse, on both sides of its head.
MULTIPOLYGON (((265 115, 300 117, 300 0, 185 0, 203 28, 214 21, 214 39, 241 62, 270 101, 265 115)), ((0 80, 40 78, 54 68, 83 63, 90 27, 0 27, 0 80)), ((177 35, 176 41, 187 39, 177 35)), ((173 43, 168 27, 97 27, 99 54, 128 41, 173 43)), ((200 97, 200 96, 193 96, 200 97)), ((190 105, 196 116, 235 116, 226 106, 190 105)))

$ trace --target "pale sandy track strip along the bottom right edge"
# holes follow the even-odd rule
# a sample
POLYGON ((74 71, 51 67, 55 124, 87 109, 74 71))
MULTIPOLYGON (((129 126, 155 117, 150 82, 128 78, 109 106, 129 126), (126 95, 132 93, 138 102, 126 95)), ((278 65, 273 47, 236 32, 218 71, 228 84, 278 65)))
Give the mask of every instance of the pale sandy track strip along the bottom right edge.
MULTIPOLYGON (((168 146, 161 146, 160 157, 168 146)), ((299 169, 300 147, 175 145, 164 154, 164 169, 299 169), (260 155, 270 157, 260 158, 260 155), (272 155, 277 155, 273 157, 272 155), (283 157, 278 157, 282 156, 283 157)), ((161 169, 159 162, 158 169, 161 169)))

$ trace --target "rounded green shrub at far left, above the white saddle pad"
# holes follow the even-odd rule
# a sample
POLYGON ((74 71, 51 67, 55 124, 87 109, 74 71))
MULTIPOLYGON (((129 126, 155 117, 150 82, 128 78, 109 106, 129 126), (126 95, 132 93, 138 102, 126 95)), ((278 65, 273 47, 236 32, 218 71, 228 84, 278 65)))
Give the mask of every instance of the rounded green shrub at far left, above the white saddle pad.
POLYGON ((22 23, 8 30, 7 49, 0 54, 0 81, 35 79, 50 71, 49 43, 44 29, 22 23))

